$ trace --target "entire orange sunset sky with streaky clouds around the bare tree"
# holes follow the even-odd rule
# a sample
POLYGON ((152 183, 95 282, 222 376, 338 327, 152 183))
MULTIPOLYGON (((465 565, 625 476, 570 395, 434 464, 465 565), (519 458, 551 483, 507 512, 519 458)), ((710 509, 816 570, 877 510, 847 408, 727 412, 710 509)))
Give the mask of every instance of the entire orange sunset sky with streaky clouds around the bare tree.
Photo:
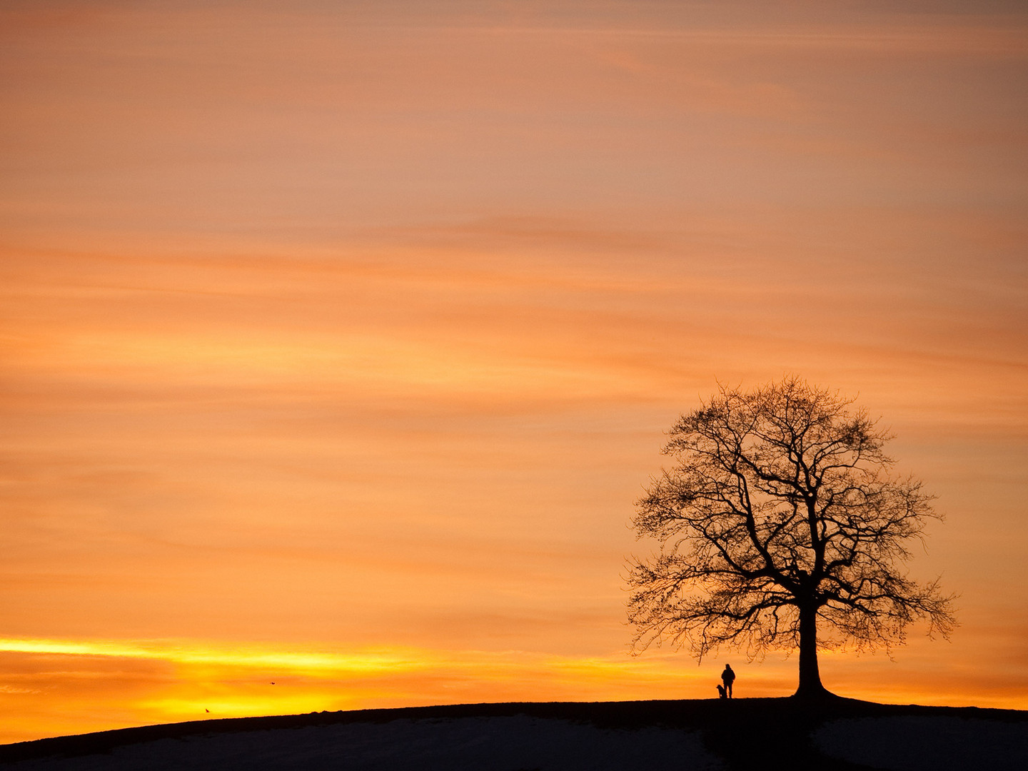
POLYGON ((825 686, 1028 709, 1026 213, 1020 2, 3 0, 0 741, 791 694, 624 609, 663 432, 787 373, 961 595, 825 686))

